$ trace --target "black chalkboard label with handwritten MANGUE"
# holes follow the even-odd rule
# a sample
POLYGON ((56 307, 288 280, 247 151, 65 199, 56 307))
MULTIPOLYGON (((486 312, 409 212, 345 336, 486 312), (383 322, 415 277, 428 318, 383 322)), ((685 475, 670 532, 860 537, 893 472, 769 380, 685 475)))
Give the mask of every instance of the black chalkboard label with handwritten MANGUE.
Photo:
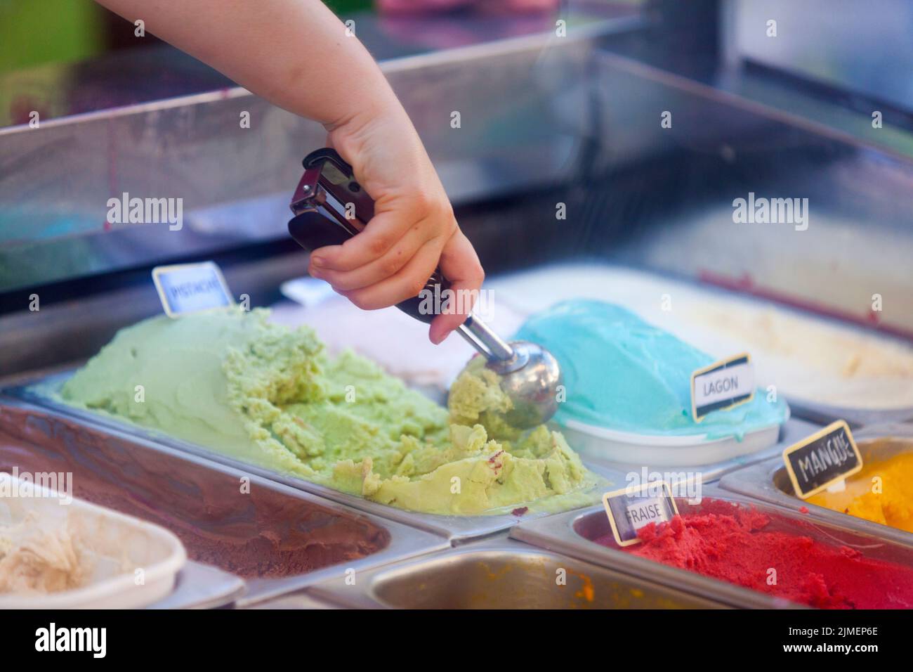
POLYGON ((862 469, 862 455, 845 421, 838 420, 783 451, 796 495, 805 499, 862 469))

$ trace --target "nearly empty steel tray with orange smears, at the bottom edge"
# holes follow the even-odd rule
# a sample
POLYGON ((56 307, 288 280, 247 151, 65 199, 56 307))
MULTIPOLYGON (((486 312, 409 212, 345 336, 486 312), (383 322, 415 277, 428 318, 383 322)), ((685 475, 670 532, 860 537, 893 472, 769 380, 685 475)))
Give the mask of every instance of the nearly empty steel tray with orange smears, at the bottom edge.
MULTIPOLYGON (((543 518, 542 520, 548 520, 543 518)), ((404 609, 661 609, 723 605, 654 581, 498 535, 312 585, 305 598, 341 607, 404 609), (566 581, 562 584, 559 577, 566 581)), ((283 600, 295 606, 298 596, 283 600)), ((302 603, 302 606, 309 606, 302 603)))

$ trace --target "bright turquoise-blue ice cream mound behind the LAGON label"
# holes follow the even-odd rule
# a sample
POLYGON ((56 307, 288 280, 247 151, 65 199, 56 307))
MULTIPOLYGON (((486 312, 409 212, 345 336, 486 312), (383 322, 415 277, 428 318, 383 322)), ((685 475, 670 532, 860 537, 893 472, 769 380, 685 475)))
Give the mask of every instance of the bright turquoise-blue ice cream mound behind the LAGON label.
POLYGON ((691 418, 691 373, 714 357, 624 308, 574 300, 532 315, 515 336, 546 347, 558 359, 567 399, 555 421, 708 439, 736 436, 780 424, 789 417, 782 399, 768 401, 759 389, 752 400, 691 418))

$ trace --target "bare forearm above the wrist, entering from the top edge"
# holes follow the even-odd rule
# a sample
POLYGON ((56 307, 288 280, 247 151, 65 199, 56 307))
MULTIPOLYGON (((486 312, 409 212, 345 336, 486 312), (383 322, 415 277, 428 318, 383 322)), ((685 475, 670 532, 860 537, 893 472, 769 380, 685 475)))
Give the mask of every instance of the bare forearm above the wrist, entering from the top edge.
POLYGON ((371 54, 320 0, 98 1, 328 128, 400 107, 371 54))

